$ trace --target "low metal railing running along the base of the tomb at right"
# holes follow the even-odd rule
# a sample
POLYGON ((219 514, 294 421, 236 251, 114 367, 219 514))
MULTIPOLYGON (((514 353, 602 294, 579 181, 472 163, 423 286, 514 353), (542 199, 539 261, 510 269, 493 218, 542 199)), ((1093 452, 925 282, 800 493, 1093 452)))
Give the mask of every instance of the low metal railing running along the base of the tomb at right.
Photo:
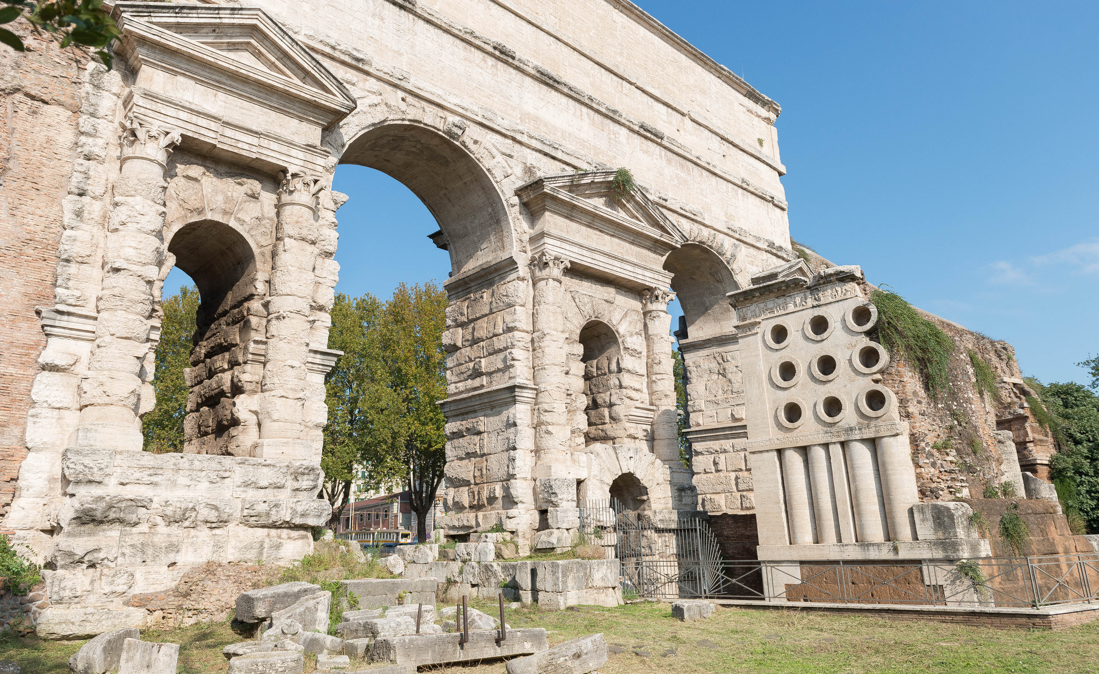
POLYGON ((1099 601, 1099 554, 962 562, 622 561, 629 598, 1030 607, 1099 601))

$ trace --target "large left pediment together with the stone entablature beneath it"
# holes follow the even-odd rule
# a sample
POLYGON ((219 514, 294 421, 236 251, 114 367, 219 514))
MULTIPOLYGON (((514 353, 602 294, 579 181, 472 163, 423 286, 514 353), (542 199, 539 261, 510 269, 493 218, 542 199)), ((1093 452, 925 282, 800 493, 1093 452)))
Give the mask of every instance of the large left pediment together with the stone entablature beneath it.
POLYGON ((116 52, 134 73, 126 112, 179 129, 184 145, 266 170, 315 173, 321 131, 355 109, 340 80, 267 13, 119 2, 116 52))

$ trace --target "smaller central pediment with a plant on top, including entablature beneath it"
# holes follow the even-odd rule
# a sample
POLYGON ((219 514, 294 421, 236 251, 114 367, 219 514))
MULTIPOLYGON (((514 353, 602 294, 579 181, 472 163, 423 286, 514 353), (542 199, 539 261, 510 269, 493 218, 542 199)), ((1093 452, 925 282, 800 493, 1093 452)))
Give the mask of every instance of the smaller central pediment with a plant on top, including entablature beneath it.
POLYGON ((640 189, 615 194, 614 172, 539 178, 515 194, 535 221, 531 252, 546 251, 575 272, 636 288, 667 287, 664 257, 686 243, 679 228, 640 189))

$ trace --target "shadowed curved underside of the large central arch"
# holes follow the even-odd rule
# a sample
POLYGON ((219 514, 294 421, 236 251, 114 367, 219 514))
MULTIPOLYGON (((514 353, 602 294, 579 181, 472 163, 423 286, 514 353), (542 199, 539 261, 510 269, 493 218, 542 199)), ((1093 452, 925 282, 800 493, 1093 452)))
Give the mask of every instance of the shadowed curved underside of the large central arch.
POLYGON ((512 252, 500 194, 480 164, 443 134, 415 124, 386 124, 358 136, 341 157, 399 180, 423 201, 443 231, 452 274, 512 252))

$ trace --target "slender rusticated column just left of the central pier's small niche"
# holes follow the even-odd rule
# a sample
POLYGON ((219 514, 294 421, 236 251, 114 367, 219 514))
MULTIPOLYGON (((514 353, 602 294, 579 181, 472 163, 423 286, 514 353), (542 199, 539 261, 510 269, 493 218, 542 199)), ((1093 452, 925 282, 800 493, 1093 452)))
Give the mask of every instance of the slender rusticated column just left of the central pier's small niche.
MULTIPOLYGON (((550 253, 531 258, 534 283, 534 451, 540 464, 568 464, 568 382, 562 277, 568 261, 550 253)), ((575 497, 574 497, 575 498, 575 497)))

